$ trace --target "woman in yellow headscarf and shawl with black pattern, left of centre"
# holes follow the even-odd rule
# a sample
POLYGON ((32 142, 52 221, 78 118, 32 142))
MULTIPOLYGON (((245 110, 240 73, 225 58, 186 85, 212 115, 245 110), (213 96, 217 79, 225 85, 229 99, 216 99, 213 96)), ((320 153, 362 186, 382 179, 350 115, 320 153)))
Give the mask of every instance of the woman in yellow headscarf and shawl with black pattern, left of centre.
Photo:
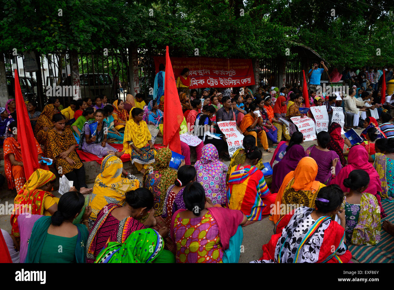
POLYGON ((139 188, 139 180, 123 169, 122 160, 115 155, 107 155, 101 163, 101 173, 97 175, 93 186, 93 193, 89 200, 92 213, 88 219, 92 228, 97 214, 109 203, 123 206, 126 192, 139 188), (122 173, 126 178, 122 178, 122 173))

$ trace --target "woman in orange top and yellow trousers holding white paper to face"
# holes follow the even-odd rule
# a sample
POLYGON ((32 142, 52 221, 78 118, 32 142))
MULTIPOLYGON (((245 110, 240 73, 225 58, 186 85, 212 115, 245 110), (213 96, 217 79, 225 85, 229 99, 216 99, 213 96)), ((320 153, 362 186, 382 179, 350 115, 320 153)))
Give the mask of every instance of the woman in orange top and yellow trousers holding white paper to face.
MULTIPOLYGON (((266 131, 262 129, 262 121, 260 117, 257 117, 254 111, 256 110, 255 104, 249 105, 249 112, 243 117, 240 129, 243 132, 244 136, 252 135, 256 138, 256 146, 257 146, 257 137, 260 138, 261 145, 263 145, 264 150, 273 153, 271 149, 268 148, 268 139, 266 131)), ((257 107, 257 111, 258 107, 257 107)))

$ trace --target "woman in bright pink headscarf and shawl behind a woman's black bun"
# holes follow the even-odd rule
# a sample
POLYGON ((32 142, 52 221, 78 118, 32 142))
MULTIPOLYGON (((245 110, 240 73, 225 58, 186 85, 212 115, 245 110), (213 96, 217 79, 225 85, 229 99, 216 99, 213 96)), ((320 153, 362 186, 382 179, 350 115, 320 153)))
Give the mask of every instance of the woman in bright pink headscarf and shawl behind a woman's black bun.
POLYGON ((370 183, 365 189, 365 192, 371 193, 377 199, 377 203, 380 208, 380 216, 387 216, 384 213, 382 203, 380 201, 379 192, 382 191, 381 181, 379 179, 379 174, 375 170, 374 166, 368 162, 368 153, 364 147, 361 145, 356 145, 350 148, 348 156, 348 165, 343 167, 341 171, 336 175, 335 178, 331 179, 330 184, 338 184, 344 192, 349 192, 349 188, 346 188, 343 184, 344 179, 349 177, 349 173, 353 170, 361 169, 368 173, 370 177, 370 183))

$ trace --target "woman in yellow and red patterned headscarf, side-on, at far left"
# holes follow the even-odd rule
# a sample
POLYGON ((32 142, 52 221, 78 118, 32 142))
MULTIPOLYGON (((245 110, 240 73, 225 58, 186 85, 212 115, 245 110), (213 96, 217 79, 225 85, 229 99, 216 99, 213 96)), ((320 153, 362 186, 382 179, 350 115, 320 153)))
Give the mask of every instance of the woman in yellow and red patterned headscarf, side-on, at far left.
MULTIPOLYGON (((11 234, 19 237, 18 216, 20 214, 41 214, 52 216, 58 210, 59 199, 49 191, 55 184, 55 175, 44 169, 37 169, 14 199, 11 214, 11 234)), ((28 217, 28 216, 27 216, 28 217)))

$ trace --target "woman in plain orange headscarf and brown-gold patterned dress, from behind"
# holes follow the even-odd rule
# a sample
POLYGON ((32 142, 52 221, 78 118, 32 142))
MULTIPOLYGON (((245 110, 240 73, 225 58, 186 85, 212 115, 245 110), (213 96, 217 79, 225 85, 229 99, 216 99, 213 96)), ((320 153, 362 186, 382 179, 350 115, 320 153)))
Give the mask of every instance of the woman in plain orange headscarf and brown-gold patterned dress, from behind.
POLYGON ((311 157, 304 157, 301 158, 296 169, 284 177, 273 209, 271 209, 274 223, 277 223, 284 214, 289 214, 300 206, 316 208, 316 196, 319 190, 325 186, 315 180, 317 174, 316 161, 311 157))

